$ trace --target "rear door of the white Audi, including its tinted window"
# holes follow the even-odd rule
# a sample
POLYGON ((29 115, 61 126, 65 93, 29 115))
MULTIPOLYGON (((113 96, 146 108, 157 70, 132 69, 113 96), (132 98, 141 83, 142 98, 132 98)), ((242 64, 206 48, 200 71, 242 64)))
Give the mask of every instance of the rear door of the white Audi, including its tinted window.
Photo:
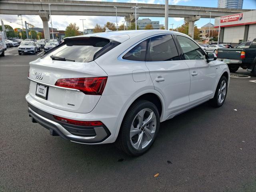
POLYGON ((166 118, 189 104, 190 74, 185 61, 180 60, 172 35, 149 38, 146 66, 154 87, 164 97, 166 118))

